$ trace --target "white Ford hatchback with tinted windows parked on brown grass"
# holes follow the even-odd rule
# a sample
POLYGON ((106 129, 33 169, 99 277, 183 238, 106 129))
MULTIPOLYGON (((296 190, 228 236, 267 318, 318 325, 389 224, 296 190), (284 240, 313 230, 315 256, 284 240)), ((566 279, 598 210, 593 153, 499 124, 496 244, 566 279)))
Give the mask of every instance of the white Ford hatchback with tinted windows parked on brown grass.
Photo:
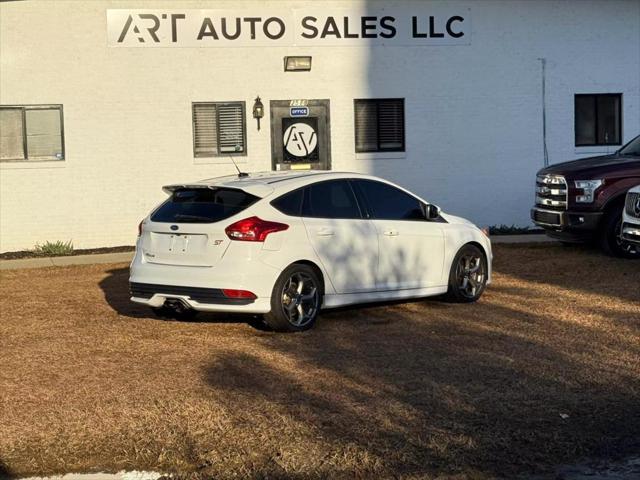
POLYGON ((477 300, 491 242, 467 220, 380 178, 289 171, 164 187, 140 223, 131 300, 158 314, 265 314, 313 326, 320 308, 447 294, 477 300))

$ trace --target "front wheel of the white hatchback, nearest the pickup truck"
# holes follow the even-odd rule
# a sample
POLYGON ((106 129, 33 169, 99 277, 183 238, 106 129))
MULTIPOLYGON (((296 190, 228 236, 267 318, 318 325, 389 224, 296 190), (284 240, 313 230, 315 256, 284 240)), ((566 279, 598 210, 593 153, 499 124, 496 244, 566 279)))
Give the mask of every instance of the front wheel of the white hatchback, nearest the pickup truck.
POLYGON ((445 298, 453 303, 471 303, 478 300, 487 286, 487 257, 470 243, 456 254, 449 271, 449 289, 445 298))

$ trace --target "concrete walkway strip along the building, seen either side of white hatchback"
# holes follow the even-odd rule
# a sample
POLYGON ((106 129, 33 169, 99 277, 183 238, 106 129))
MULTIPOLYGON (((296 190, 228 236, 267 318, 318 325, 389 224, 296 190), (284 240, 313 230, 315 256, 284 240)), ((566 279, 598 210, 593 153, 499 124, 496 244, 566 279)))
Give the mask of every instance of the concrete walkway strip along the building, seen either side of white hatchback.
MULTIPOLYGON (((553 243, 556 240, 546 235, 497 235, 491 237, 491 243, 553 243)), ((99 263, 131 262, 133 252, 97 253, 93 255, 71 255, 68 257, 23 258, 19 260, 0 260, 0 270, 23 268, 65 267, 68 265, 94 265, 99 263)))

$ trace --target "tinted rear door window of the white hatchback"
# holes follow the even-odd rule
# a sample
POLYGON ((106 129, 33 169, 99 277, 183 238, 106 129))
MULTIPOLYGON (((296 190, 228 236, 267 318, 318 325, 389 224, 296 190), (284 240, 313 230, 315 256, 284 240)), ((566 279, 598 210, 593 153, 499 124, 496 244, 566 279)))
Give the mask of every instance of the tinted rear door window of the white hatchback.
POLYGON ((305 189, 302 216, 362 218, 351 185, 345 180, 314 183, 305 189))

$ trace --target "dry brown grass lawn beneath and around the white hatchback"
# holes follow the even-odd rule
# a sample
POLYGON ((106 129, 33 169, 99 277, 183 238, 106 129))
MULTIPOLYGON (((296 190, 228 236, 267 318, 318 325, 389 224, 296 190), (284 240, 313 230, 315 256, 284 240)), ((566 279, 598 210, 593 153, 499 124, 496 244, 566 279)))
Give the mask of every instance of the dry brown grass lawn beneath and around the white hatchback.
POLYGON ((157 320, 126 265, 2 272, 0 476, 488 478, 637 452, 640 263, 495 250, 475 305, 328 312, 297 335, 157 320))

